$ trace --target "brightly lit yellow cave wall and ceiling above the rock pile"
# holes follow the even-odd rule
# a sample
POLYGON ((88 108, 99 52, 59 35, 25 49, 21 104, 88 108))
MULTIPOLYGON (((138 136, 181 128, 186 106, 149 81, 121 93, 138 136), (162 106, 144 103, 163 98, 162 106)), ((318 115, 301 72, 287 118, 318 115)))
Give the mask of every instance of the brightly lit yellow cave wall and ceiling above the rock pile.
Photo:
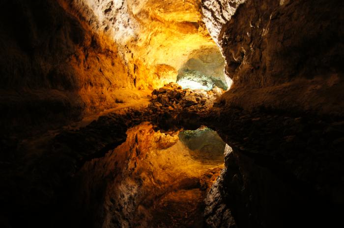
POLYGON ((128 44, 133 55, 127 59, 138 81, 145 82, 139 85, 143 88, 175 82, 176 72, 192 51, 215 46, 201 21, 199 0, 147 0, 132 7, 132 11, 140 23, 140 33, 135 42, 128 44), (156 77, 155 69, 162 64, 171 68, 168 77, 156 77))

